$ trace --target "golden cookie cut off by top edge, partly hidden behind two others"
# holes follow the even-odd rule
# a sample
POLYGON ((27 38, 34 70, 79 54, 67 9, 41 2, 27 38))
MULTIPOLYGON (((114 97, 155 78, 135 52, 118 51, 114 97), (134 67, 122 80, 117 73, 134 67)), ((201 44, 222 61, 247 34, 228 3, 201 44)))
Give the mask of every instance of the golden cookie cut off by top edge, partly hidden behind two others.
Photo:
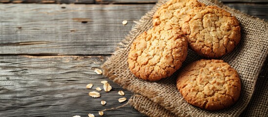
POLYGON ((197 0, 169 0, 153 15, 153 25, 178 25, 181 27, 183 19, 194 7, 205 6, 197 0))

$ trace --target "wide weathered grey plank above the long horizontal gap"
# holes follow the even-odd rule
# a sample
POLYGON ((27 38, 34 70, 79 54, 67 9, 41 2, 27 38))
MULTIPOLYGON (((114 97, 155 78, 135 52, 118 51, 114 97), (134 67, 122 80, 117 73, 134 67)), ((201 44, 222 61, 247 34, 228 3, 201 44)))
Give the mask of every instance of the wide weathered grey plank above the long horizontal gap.
MULTIPOLYGON (((109 55, 154 4, 63 5, 0 4, 0 55, 109 55)), ((268 4, 227 5, 268 19, 268 4)))

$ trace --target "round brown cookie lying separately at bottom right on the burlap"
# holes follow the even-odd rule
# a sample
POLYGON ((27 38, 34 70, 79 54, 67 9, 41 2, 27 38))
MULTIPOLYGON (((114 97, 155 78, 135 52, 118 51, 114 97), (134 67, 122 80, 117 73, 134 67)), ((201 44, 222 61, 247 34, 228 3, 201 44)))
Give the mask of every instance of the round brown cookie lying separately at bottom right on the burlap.
POLYGON ((177 78, 185 100, 206 110, 220 110, 235 103, 241 83, 237 71, 223 60, 201 59, 186 66, 177 78))

